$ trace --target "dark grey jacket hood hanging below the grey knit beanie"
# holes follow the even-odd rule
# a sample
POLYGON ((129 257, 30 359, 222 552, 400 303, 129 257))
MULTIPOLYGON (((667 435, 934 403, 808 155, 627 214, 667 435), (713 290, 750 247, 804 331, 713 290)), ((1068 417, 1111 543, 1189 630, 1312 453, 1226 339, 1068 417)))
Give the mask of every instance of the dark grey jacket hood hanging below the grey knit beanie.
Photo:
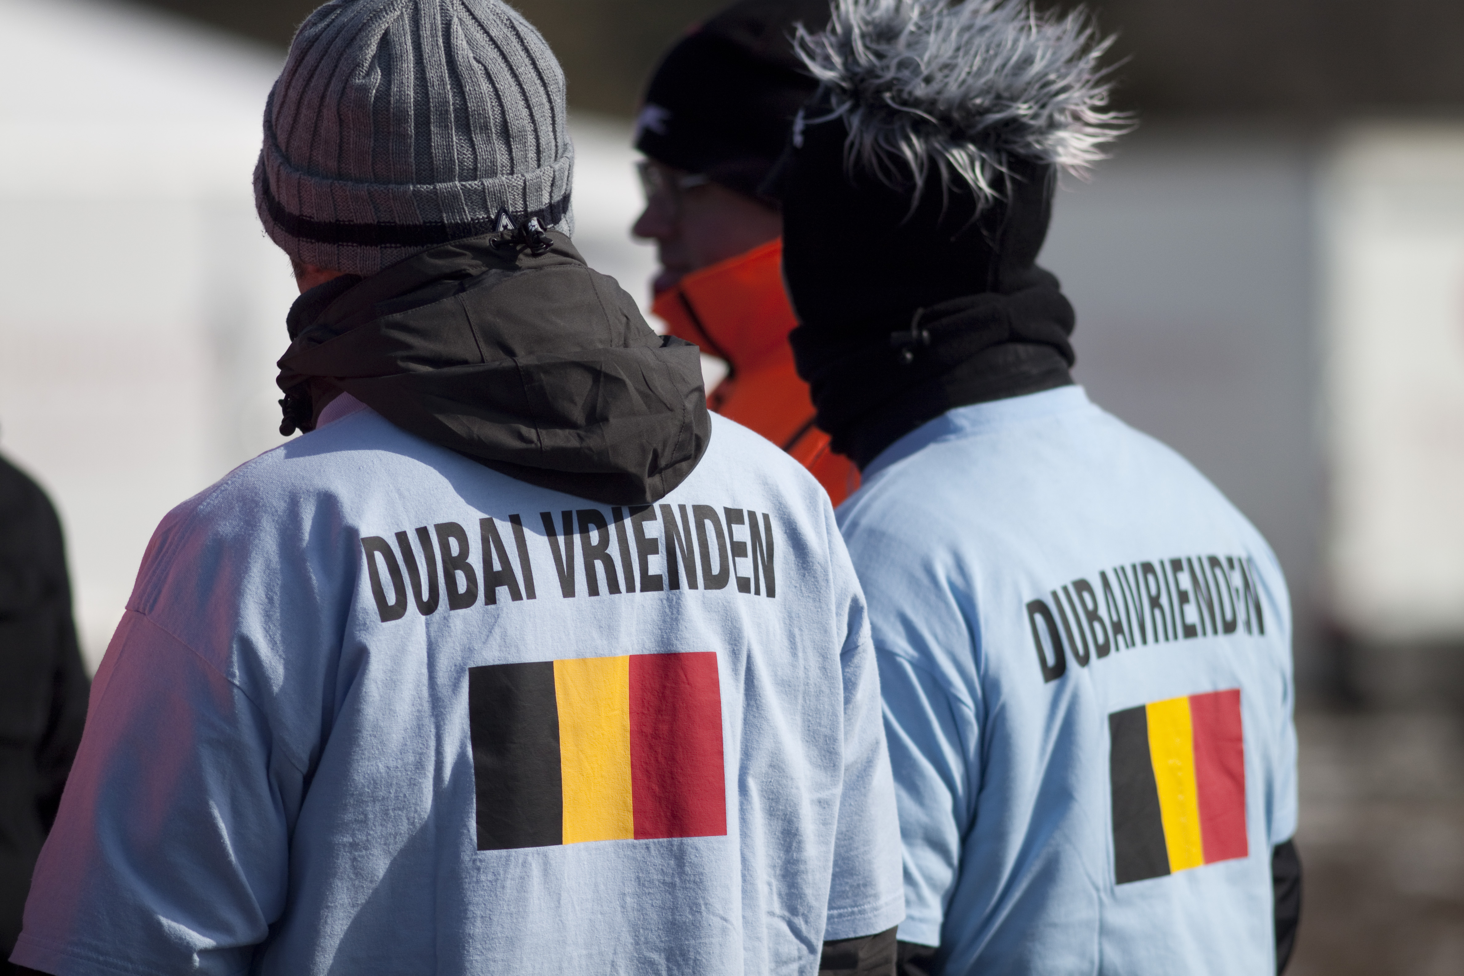
POLYGON ((681 484, 712 436, 697 347, 656 335, 564 234, 496 236, 300 296, 280 359, 281 430, 334 389, 495 471, 609 505, 681 484))

